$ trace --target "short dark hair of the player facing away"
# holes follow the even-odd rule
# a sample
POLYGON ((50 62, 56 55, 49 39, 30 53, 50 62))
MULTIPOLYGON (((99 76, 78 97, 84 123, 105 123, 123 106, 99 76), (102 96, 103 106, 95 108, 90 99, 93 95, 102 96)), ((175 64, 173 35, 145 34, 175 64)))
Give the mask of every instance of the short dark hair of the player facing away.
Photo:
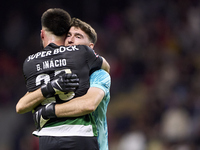
POLYGON ((41 17, 42 27, 57 36, 68 33, 71 23, 69 13, 60 8, 50 8, 41 17))

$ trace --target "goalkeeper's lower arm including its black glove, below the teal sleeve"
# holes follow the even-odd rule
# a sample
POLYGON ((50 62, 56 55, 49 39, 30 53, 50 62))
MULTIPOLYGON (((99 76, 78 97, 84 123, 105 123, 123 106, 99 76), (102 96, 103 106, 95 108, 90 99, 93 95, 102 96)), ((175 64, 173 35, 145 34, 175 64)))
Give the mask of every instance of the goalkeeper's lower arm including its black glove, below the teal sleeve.
POLYGON ((74 98, 62 104, 49 103, 33 113, 33 119, 37 129, 41 129, 50 118, 78 117, 89 114, 97 108, 104 97, 104 91, 91 87, 81 97, 74 98))

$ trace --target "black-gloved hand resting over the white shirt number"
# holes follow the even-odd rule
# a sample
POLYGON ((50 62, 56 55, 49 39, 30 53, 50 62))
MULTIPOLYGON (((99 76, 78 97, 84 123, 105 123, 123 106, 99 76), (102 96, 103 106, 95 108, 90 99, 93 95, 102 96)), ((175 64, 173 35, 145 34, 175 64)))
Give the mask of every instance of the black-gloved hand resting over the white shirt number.
POLYGON ((60 74, 58 78, 48 82, 41 87, 44 97, 49 98, 55 94, 68 93, 75 91, 79 86, 79 78, 76 74, 60 74))

